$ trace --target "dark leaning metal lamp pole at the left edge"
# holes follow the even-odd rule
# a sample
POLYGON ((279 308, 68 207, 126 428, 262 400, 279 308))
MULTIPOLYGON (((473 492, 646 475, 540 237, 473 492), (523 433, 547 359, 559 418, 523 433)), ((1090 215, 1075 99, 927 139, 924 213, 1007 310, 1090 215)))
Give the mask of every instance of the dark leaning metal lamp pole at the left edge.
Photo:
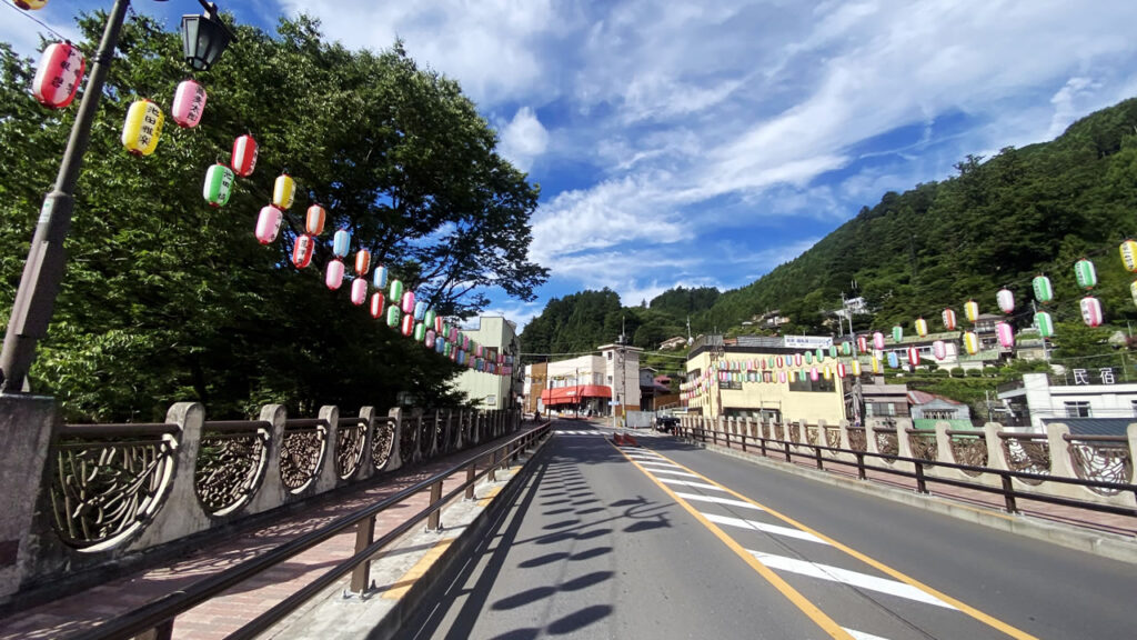
POLYGON ((75 124, 72 125, 67 149, 59 165, 55 189, 43 198, 40 220, 35 225, 32 247, 24 263, 24 274, 19 279, 16 302, 13 304, 8 333, 0 352, 0 393, 23 393, 27 371, 35 360, 35 343, 48 335, 48 323, 55 311, 56 297, 63 281, 67 254, 64 238, 70 230, 72 212, 75 210, 75 183, 83 166, 83 155, 91 141, 91 125, 99 109, 102 84, 110 71, 110 60, 118 46, 118 34, 128 0, 115 0, 107 25, 99 42, 91 76, 83 90, 75 124))

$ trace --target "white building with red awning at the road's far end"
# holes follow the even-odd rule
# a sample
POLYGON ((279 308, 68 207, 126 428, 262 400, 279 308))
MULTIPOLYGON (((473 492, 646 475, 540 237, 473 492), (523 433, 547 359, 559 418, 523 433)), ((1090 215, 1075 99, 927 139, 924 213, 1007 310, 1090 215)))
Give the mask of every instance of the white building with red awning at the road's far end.
MULTIPOLYGON (((640 409, 639 354, 642 348, 608 344, 599 353, 525 367, 526 410, 611 416, 613 407, 640 409), (530 409, 532 408, 532 409, 530 409)), ((623 409, 617 413, 622 415, 623 409)))

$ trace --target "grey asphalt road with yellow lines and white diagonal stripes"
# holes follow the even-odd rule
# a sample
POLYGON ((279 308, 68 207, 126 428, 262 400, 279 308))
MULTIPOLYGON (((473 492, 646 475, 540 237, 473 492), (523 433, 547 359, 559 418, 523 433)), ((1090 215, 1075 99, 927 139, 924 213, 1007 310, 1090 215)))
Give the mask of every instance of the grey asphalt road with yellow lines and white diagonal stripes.
MULTIPOLYGON (((1134 638, 1137 566, 558 422, 407 638, 1134 638)), ((850 481, 856 482, 856 481, 850 481)))

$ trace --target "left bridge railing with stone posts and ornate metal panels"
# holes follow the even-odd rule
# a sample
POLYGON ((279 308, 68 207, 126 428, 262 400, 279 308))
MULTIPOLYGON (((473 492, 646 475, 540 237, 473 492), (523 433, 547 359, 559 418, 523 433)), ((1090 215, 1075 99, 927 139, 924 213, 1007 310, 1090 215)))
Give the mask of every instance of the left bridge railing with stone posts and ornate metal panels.
MULTIPOLYGON (((341 416, 289 417, 283 405, 255 420, 207 420, 199 403, 171 407, 159 424, 52 425, 14 594, 141 557, 156 548, 302 502, 408 463, 516 430, 517 411, 371 407, 341 416)), ((9 571, 13 571, 11 568, 9 571)))

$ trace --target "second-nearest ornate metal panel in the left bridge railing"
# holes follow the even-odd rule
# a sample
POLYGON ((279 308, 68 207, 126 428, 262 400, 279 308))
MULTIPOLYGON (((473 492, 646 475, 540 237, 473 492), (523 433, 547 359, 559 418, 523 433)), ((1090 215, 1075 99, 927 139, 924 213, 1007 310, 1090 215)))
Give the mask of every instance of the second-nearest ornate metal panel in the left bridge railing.
POLYGON ((268 467, 269 422, 206 422, 193 468, 202 508, 224 516, 256 493, 268 467))

